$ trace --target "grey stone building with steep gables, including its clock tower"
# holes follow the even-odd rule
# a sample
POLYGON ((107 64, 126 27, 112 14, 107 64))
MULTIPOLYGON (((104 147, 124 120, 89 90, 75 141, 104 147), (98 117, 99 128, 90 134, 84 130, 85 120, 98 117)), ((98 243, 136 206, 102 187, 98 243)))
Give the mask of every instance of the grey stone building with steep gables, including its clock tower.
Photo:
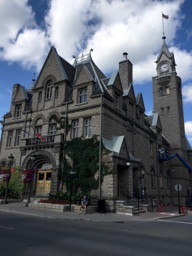
POLYGON ((143 189, 157 203, 176 204, 177 183, 182 186, 181 203, 191 200, 192 172, 179 158, 168 158, 177 153, 184 163, 192 165, 192 147, 185 137, 181 79, 176 73, 174 55, 163 37, 152 78, 154 113, 150 116, 144 113, 142 93, 134 93, 132 63, 127 53, 123 55, 119 71, 106 77, 92 60, 91 51, 75 57, 72 65, 52 47, 36 83, 27 90, 22 85, 13 85, 11 108, 2 121, 0 163, 7 166, 7 156, 12 153, 14 165, 26 168, 30 166, 31 153, 36 154, 34 165, 38 172, 32 196, 47 195, 60 188, 57 174, 64 133, 56 130, 55 121, 48 122, 50 116, 56 115, 68 116, 72 124, 66 140, 99 134, 110 150, 101 161, 109 162, 112 174, 104 176, 100 192, 92 194, 95 201, 106 200, 108 211, 115 211, 118 192, 134 195, 136 190, 143 189), (32 126, 45 141, 21 130, 35 135, 32 126), (159 149, 168 151, 166 158, 159 158, 159 149))

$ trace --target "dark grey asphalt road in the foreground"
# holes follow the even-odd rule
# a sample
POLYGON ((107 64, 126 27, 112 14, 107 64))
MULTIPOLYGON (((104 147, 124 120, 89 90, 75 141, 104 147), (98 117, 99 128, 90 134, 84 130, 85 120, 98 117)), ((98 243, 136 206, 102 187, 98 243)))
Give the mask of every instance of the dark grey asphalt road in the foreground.
POLYGON ((0 212, 0 256, 191 256, 192 216, 86 221, 0 212))

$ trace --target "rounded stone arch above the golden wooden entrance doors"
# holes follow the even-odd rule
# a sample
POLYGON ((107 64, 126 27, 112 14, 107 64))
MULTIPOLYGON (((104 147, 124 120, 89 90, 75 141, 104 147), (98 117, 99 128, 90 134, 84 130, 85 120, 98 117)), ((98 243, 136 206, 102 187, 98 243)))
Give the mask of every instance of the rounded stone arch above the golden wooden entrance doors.
MULTIPOLYGON (((32 161, 31 161, 31 153, 30 152, 28 154, 28 156, 24 159, 23 161, 23 165, 22 168, 26 169, 29 168, 32 161)), ((53 154, 47 150, 36 150, 33 151, 33 153, 36 154, 36 159, 34 160, 34 166, 36 166, 37 169, 40 169, 40 167, 44 164, 44 163, 49 163, 52 165, 52 169, 55 170, 56 168, 56 161, 55 158, 53 156, 53 154)))

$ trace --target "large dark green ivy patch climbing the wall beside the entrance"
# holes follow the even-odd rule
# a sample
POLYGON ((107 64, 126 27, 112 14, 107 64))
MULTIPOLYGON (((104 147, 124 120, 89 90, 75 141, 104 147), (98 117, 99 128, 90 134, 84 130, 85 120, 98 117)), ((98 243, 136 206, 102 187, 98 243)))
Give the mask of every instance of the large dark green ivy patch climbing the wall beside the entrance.
MULTIPOLYGON (((63 175, 61 170, 58 178, 63 178, 67 191, 71 189, 70 171, 75 171, 73 186, 76 191, 82 189, 84 194, 88 194, 92 189, 97 189, 99 185, 99 147, 100 141, 94 135, 91 138, 74 138, 65 143, 65 158, 63 159, 63 175), (71 161, 70 161, 71 159, 71 161), (95 176, 95 174, 97 174, 95 176)), ((104 151, 101 143, 101 150, 104 151)), ((106 167, 101 164, 100 180, 103 181, 106 167)))

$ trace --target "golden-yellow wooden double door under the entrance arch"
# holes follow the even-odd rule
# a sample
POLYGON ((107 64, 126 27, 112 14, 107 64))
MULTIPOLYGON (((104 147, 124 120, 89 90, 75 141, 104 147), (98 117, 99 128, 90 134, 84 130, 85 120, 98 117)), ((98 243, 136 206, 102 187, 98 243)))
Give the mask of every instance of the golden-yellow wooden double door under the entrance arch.
POLYGON ((51 171, 38 171, 36 194, 47 195, 51 187, 51 171))

